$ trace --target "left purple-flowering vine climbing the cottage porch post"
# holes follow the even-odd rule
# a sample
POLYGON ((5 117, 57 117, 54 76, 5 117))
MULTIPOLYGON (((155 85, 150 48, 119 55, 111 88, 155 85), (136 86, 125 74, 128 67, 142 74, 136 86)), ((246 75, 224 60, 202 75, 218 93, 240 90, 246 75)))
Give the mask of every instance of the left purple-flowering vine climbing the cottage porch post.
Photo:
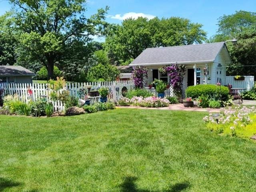
POLYGON ((148 68, 144 66, 135 66, 132 71, 132 79, 136 88, 142 88, 144 78, 148 78, 148 68))

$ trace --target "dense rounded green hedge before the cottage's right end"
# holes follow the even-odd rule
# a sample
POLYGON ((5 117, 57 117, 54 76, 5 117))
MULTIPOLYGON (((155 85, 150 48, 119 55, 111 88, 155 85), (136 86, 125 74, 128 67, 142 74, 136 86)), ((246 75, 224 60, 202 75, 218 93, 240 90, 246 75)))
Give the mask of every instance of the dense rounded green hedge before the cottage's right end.
POLYGON ((217 85, 196 85, 190 86, 186 89, 186 97, 198 98, 201 95, 208 97, 216 97, 220 100, 226 101, 229 95, 229 89, 225 86, 217 85), (220 98, 220 92, 222 98, 220 98))

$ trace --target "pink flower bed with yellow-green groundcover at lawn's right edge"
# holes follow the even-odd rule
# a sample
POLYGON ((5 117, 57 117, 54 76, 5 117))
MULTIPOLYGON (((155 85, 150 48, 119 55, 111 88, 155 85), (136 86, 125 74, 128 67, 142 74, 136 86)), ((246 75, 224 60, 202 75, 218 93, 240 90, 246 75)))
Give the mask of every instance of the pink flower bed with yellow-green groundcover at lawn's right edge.
POLYGON ((220 114, 210 113, 203 119, 211 131, 222 135, 250 138, 256 134, 256 108, 236 107, 220 114))

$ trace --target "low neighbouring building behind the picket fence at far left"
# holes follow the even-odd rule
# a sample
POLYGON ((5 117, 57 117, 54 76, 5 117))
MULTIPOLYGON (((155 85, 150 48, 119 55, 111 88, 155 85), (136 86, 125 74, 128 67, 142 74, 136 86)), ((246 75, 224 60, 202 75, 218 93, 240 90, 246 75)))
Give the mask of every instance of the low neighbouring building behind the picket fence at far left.
POLYGON ((0 65, 0 83, 32 83, 32 71, 18 65, 0 65))

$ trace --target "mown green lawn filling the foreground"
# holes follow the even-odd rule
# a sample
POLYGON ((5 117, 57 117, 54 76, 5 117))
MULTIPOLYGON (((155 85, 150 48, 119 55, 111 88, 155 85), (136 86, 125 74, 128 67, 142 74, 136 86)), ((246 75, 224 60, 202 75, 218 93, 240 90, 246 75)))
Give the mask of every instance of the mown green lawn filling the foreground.
POLYGON ((0 116, 0 192, 255 192, 256 143, 211 133, 204 115, 0 116))

